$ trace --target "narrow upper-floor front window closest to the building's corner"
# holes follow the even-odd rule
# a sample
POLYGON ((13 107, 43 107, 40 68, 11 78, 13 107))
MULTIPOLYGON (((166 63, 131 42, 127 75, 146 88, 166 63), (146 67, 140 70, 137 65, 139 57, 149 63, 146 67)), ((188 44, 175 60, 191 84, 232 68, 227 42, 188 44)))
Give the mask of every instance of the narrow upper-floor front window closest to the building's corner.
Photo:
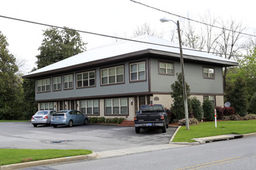
POLYGON ((145 62, 130 64, 130 80, 146 80, 145 62))

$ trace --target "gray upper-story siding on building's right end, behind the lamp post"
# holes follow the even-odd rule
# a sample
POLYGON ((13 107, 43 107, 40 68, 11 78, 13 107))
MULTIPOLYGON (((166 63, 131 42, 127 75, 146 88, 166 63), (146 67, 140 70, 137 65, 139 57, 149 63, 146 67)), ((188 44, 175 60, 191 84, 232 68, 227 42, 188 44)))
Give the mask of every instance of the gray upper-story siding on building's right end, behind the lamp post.
MULTIPOLYGON (((164 61, 164 60, 160 60, 164 61)), ((166 60, 167 62, 173 62, 166 60)), ((180 73, 180 62, 173 62, 175 65, 175 76, 161 75, 158 72, 158 59, 150 59, 150 87, 152 92, 168 93, 171 92, 171 84, 177 80, 176 73, 180 73)), ((223 93, 222 67, 209 66, 215 70, 215 79, 204 79, 202 67, 196 63, 185 63, 185 81, 189 84, 190 93, 223 93)))

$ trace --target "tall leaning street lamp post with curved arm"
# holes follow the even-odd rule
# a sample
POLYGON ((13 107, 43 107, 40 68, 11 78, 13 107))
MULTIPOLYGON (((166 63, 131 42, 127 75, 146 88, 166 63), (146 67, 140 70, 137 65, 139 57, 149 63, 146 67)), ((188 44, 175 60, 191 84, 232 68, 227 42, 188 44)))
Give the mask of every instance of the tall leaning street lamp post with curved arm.
MULTIPOLYGON (((171 19, 160 19, 161 22, 174 22, 171 19)), ((186 129, 189 130, 189 110, 188 110, 188 97, 187 90, 185 87, 185 75, 184 75, 184 62, 183 62, 183 53, 182 53, 182 36, 181 30, 179 28, 179 22, 174 22, 178 28, 178 42, 179 42, 179 50, 181 53, 181 67, 182 67, 182 87, 183 87, 183 98, 184 98, 184 107, 185 107, 185 126, 186 129)))

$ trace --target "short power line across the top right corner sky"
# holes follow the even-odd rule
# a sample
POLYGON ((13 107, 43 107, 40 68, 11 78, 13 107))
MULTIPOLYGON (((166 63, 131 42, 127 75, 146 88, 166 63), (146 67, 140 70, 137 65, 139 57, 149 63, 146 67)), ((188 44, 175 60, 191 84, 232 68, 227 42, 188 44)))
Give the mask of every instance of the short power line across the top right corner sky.
MULTIPOLYGON (((230 31, 230 32, 237 32, 237 31, 234 31, 234 30, 231 30, 231 29, 225 29, 225 28, 220 27, 220 26, 214 26, 214 25, 208 24, 208 23, 206 23, 206 22, 200 22, 200 21, 197 21, 197 20, 195 20, 195 19, 189 19, 189 18, 186 18, 185 16, 177 15, 177 14, 174 14, 174 13, 171 13, 171 12, 167 12, 167 11, 164 11, 164 10, 162 10, 162 9, 160 9, 160 8, 155 8, 155 7, 153 7, 153 6, 146 5, 146 4, 141 3, 141 2, 136 2, 136 1, 133 1, 133 0, 130 0, 130 1, 131 1, 131 2, 134 2, 134 3, 137 3, 137 4, 140 4, 140 5, 144 5, 144 6, 148 7, 148 8, 153 8, 153 9, 155 9, 155 10, 157 10, 157 11, 160 11, 160 12, 164 12, 164 13, 167 13, 167 14, 170 14, 170 15, 178 16, 179 18, 182 18, 182 19, 187 19, 187 20, 192 21, 192 22, 197 22, 197 23, 200 23, 200 24, 203 24, 203 25, 206 25, 206 26, 212 26, 212 27, 215 27, 215 28, 217 28, 217 29, 224 29, 224 30, 227 30, 227 31, 230 31)), ((245 35, 245 36, 254 36, 254 37, 256 37, 255 35, 248 34, 248 33, 244 33, 244 32, 237 32, 237 33, 243 34, 243 35, 245 35)))

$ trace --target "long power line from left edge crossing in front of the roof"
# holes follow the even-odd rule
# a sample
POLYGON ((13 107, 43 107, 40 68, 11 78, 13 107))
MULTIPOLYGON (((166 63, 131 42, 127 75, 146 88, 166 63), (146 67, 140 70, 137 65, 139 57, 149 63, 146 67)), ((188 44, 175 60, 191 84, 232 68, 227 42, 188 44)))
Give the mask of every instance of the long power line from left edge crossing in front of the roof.
MULTIPOLYGON (((5 18, 5 19, 16 20, 16 21, 20 21, 20 22, 28 22, 28 23, 32 23, 32 24, 36 24, 36 25, 40 25, 40 26, 50 26, 50 27, 57 28, 57 29, 67 29, 67 30, 71 30, 71 31, 92 34, 92 35, 95 35, 95 36, 104 36, 104 37, 108 37, 108 38, 112 38, 112 39, 122 39, 122 40, 126 40, 126 41, 131 41, 131 42, 140 42, 140 43, 146 43, 146 44, 155 45, 155 46, 165 46, 165 47, 171 47, 171 48, 179 49, 178 46, 168 46, 168 45, 157 44, 157 43, 153 43, 153 42, 139 41, 139 40, 136 40, 136 39, 126 39, 126 38, 122 38, 122 37, 118 37, 118 36, 109 36, 109 35, 106 35, 106 34, 100 34, 100 33, 95 33, 95 32, 81 31, 81 30, 78 30, 78 29, 69 29, 67 27, 54 26, 54 25, 45 24, 45 23, 41 23, 41 22, 28 21, 28 20, 25 20, 25 19, 16 19, 16 18, 12 18, 12 17, 9 17, 9 16, 4 16, 4 15, 0 15, 0 17, 5 18)), ((209 53, 207 51, 200 51, 198 49, 188 49, 188 48, 184 48, 184 47, 182 47, 182 49, 186 49, 186 50, 190 50, 190 51, 195 51, 195 52, 209 53)), ((216 55, 222 56, 224 54, 223 53, 216 53, 216 55)), ((232 56, 242 57, 240 55, 239 56, 238 55, 232 55, 232 56)))

